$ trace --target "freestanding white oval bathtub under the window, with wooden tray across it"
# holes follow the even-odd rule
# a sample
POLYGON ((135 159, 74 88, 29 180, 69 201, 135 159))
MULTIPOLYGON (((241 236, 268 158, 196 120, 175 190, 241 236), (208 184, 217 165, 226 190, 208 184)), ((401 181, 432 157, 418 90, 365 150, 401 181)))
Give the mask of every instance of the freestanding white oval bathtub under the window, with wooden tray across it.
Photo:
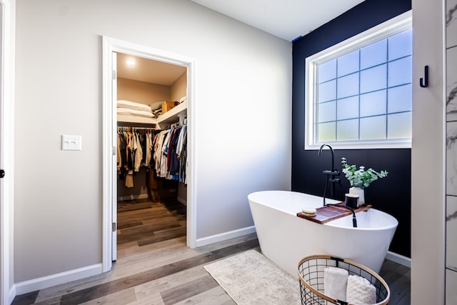
POLYGON ((248 201, 262 254, 293 276, 298 261, 315 254, 352 259, 378 273, 398 226, 393 216, 376 209, 356 213, 357 228, 352 215, 317 224, 296 214, 303 206, 323 206, 322 197, 293 191, 258 191, 248 201))

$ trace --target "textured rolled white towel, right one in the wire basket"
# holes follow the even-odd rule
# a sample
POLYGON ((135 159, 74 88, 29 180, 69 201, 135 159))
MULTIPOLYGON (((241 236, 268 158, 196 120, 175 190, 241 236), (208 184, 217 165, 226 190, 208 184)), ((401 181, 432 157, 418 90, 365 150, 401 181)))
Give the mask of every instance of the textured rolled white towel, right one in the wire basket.
POLYGON ((348 276, 346 301, 352 304, 376 304, 376 288, 361 276, 348 276))

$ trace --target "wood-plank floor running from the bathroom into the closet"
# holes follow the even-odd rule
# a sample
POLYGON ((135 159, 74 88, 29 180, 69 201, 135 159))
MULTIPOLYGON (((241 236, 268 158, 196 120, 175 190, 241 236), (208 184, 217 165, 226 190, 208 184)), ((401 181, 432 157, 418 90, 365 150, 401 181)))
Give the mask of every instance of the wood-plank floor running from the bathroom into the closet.
MULTIPOLYGON (((122 202, 111 271, 16 296, 12 304, 235 304, 203 267, 248 249, 260 251, 255 234, 189 249, 186 206, 122 202)), ((385 261, 380 275, 391 289, 389 304, 410 304, 408 268, 385 261)))

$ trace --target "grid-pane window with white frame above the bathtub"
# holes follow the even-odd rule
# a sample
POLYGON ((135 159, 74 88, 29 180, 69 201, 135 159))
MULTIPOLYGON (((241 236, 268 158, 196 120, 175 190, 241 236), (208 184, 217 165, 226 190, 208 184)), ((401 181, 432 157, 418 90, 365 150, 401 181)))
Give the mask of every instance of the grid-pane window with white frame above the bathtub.
POLYGON ((411 147, 411 24, 374 32, 307 60, 308 149, 411 147))

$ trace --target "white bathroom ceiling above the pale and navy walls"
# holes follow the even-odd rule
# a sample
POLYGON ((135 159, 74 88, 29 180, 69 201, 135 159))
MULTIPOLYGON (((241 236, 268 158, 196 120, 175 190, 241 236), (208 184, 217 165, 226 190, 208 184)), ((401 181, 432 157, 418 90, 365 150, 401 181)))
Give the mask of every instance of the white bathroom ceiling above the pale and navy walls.
POLYGON ((305 36, 363 0, 191 0, 287 41, 305 36))

